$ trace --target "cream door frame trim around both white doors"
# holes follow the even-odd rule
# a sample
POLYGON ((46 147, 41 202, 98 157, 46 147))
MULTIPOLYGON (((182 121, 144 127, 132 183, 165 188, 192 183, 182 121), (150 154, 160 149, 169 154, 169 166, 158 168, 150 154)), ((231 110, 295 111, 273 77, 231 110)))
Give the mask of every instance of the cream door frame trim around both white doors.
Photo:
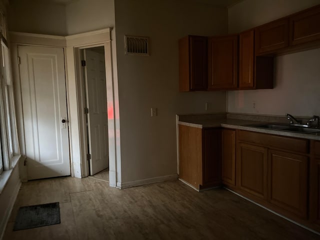
MULTIPOLYGON (((119 133, 119 103, 118 84, 116 69, 112 65, 111 47, 112 28, 103 28, 68 36, 55 36, 44 34, 33 34, 24 32, 9 32, 10 51, 12 62, 12 75, 14 81, 14 93, 16 99, 17 128, 21 154, 25 155, 23 112, 21 101, 21 85, 19 66, 17 62, 18 45, 51 46, 64 48, 66 97, 69 119, 69 145, 71 176, 88 176, 88 165, 86 160, 85 134, 83 134, 84 101, 81 89, 81 69, 79 49, 92 46, 104 46, 105 74, 107 87, 107 106, 113 109, 112 115, 108 115, 108 143, 109 143, 109 185, 116 187, 116 182, 121 182, 121 159, 120 159, 120 133, 119 133), (115 76, 115 77, 114 77, 115 76), (115 79, 114 79, 115 78, 115 79), (110 87, 111 86, 111 87, 110 87)), ((113 32, 114 34, 114 32, 113 32)), ((115 47, 115 45, 114 45, 115 47)), ((115 48, 114 48, 115 49, 115 48)), ((21 171, 21 180, 26 181, 26 170, 21 171)))

